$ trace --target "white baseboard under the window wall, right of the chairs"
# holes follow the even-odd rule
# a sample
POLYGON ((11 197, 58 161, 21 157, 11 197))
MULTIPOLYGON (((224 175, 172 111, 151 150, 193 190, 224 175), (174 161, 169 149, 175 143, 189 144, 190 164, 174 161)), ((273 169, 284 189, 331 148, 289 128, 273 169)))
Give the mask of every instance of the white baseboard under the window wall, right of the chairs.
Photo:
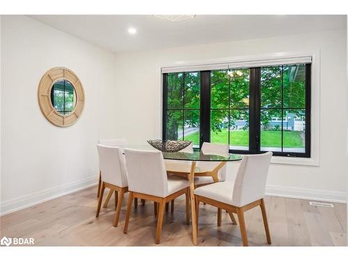
POLYGON ((347 193, 341 191, 327 191, 319 189, 303 189, 296 187, 267 185, 266 195, 283 198, 327 201, 333 203, 347 203, 347 193))

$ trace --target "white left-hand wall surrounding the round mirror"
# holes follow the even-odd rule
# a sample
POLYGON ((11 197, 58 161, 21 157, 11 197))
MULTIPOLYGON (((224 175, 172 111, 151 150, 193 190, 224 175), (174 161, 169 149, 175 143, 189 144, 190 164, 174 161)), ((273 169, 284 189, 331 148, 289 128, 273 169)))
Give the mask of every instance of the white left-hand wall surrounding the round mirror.
POLYGON ((26 16, 1 22, 1 212, 97 181, 97 139, 115 131, 114 56, 26 16), (64 66, 81 79, 86 104, 72 127, 50 124, 38 84, 64 66))

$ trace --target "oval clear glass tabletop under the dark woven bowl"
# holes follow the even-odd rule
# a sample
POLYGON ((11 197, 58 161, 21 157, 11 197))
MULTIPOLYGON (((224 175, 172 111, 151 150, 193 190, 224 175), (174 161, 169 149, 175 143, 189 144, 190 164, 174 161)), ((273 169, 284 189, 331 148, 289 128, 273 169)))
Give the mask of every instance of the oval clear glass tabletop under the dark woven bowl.
MULTIPOLYGON (((157 150, 151 145, 125 145, 122 148, 134 150, 157 150)), ((164 159, 184 160, 184 161, 238 161, 242 159, 242 155, 202 151, 194 149, 193 152, 162 152, 164 159)))

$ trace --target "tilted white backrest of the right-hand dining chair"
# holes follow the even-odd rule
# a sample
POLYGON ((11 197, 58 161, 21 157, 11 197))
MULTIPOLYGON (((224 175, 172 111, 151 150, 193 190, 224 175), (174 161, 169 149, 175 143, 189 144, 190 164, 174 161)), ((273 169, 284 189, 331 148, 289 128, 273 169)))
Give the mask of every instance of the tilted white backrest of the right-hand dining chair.
POLYGON ((272 152, 244 155, 233 187, 232 203, 242 207, 264 198, 272 152))

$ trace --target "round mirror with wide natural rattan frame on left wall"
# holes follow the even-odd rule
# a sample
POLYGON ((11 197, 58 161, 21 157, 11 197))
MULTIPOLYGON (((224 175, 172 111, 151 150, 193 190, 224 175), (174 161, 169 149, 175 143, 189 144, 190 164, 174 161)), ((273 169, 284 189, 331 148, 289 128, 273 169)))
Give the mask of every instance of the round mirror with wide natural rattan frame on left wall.
POLYGON ((73 125, 84 109, 84 88, 72 70, 56 67, 42 76, 38 102, 42 114, 58 127, 73 125))

